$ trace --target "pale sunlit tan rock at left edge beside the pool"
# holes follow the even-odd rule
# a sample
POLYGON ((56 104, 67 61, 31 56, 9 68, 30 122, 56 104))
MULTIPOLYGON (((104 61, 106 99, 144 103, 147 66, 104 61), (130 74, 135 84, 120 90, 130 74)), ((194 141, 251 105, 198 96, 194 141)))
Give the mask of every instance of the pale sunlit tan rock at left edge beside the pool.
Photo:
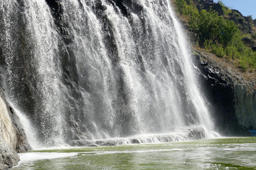
POLYGON ((16 113, 0 94, 0 169, 8 169, 18 164, 18 152, 26 152, 28 145, 26 135, 21 128, 16 113))

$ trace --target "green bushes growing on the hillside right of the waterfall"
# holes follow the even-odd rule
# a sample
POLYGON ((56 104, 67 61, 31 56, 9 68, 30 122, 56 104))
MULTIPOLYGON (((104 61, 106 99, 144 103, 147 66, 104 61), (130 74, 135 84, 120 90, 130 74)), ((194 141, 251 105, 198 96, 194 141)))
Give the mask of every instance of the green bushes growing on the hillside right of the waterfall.
MULTIPOLYGON (((218 3, 223 6, 225 15, 228 15, 230 9, 222 1, 218 3)), ((256 52, 242 41, 245 35, 242 35, 233 21, 219 16, 215 11, 198 11, 191 0, 176 0, 176 8, 188 20, 188 28, 196 33, 196 42, 200 47, 210 50, 218 57, 237 61, 242 71, 256 68, 256 52)))

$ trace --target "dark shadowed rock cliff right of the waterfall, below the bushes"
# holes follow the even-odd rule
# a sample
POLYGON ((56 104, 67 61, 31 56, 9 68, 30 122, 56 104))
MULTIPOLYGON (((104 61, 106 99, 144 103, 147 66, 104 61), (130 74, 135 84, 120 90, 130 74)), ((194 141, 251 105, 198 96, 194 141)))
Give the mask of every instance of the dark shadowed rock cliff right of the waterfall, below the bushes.
POLYGON ((198 79, 222 135, 250 135, 256 128, 256 84, 208 52, 195 50, 198 79))

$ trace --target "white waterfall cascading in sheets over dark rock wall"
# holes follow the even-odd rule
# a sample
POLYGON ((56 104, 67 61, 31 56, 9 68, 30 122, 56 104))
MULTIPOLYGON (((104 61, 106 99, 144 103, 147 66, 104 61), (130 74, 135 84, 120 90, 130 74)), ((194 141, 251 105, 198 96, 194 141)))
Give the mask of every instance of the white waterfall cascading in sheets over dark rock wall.
POLYGON ((169 0, 0 2, 6 96, 44 146, 213 123, 169 0))

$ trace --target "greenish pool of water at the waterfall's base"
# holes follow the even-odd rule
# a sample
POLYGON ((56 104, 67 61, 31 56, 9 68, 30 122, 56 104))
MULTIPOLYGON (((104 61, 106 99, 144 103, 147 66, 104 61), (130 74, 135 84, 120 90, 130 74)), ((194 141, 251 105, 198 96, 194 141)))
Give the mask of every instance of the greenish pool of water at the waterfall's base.
POLYGON ((256 137, 50 149, 30 154, 49 152, 74 155, 26 161, 14 169, 256 169, 256 137))

